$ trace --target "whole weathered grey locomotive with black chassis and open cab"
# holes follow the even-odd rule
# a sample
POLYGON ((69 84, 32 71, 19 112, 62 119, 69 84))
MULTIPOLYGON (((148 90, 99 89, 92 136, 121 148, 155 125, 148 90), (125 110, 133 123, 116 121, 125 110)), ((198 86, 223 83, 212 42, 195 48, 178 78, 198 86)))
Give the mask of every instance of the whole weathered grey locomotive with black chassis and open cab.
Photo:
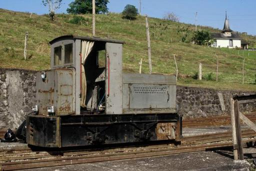
POLYGON ((41 147, 175 140, 181 136, 173 75, 122 72, 123 41, 64 35, 36 74, 26 142, 41 147))

